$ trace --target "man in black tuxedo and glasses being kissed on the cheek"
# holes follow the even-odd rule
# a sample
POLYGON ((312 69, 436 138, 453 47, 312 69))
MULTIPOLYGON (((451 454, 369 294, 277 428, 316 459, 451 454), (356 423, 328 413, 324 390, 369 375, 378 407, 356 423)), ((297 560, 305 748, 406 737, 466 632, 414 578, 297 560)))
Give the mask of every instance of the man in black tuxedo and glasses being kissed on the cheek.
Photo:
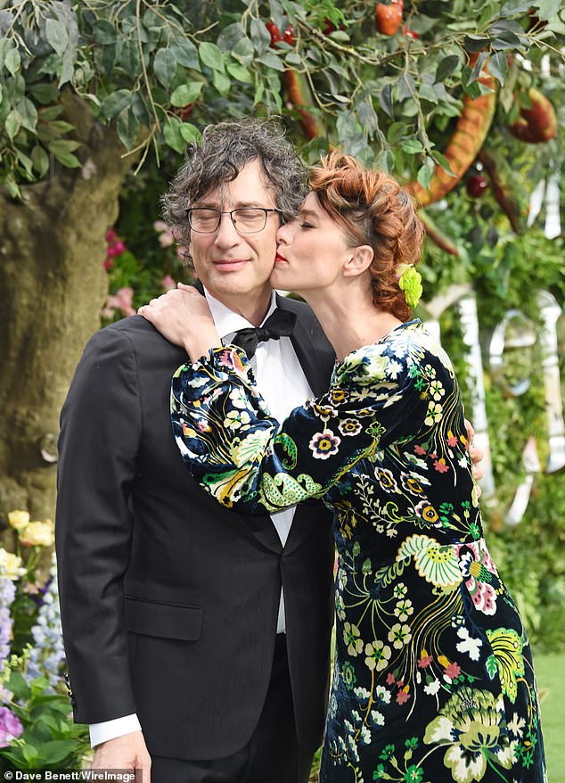
MULTIPOLYGON (((306 173, 279 128, 207 128, 164 198, 219 333, 275 416, 328 388, 307 306, 269 284, 306 173)), ((143 783, 295 783, 322 742, 333 543, 321 504, 245 518, 190 478, 169 422, 186 357, 142 317, 86 346, 61 414, 57 555, 75 719, 143 783)), ((234 427, 244 427, 234 419, 234 427)))

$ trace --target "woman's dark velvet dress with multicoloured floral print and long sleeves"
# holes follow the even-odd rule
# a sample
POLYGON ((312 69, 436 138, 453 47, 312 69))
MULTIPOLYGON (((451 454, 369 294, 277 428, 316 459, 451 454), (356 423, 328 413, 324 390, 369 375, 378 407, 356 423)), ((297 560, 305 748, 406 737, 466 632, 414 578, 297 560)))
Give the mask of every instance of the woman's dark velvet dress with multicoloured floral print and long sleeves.
POLYGON ((171 402, 184 461, 220 503, 333 510, 321 783, 542 783, 528 637, 483 538, 453 368, 420 321, 354 350, 282 424, 231 346, 181 367, 171 402))

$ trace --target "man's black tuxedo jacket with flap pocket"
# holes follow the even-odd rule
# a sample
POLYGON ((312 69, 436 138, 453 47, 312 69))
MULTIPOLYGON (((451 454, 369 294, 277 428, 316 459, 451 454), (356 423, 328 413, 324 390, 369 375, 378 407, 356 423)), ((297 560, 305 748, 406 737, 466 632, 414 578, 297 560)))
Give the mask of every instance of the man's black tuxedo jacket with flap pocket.
MULTIPOLYGON (((333 354, 311 311, 292 342, 311 388, 333 354)), ((75 720, 137 713, 150 754, 212 759, 250 739, 265 702, 281 586, 299 743, 323 736, 333 540, 320 503, 284 548, 268 516, 220 507, 184 467, 169 418, 184 350, 142 317, 88 342, 61 412, 56 545, 75 720)))

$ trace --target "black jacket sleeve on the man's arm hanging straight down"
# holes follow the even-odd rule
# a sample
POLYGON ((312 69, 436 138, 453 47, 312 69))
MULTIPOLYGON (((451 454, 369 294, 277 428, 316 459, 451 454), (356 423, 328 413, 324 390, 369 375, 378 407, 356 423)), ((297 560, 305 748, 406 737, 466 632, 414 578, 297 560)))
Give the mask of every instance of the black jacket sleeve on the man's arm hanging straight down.
POLYGON ((61 411, 55 539, 75 720, 135 713, 123 622, 128 499, 141 434, 135 351, 116 329, 86 345, 61 411))

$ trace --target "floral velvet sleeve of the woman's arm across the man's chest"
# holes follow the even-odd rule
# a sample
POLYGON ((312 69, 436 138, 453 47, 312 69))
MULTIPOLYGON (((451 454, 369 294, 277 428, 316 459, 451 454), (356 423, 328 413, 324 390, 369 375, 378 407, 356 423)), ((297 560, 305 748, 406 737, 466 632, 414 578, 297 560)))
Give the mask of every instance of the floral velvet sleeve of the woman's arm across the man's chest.
POLYGON ((211 350, 180 367, 172 383, 172 423, 192 476, 226 507, 274 512, 321 498, 362 457, 430 427, 444 408, 437 400, 446 386, 453 389, 453 375, 440 362, 444 380, 438 379, 410 326, 350 353, 336 367, 330 390, 282 424, 269 415, 241 349, 211 350), (422 395, 426 364, 433 378, 422 395))

